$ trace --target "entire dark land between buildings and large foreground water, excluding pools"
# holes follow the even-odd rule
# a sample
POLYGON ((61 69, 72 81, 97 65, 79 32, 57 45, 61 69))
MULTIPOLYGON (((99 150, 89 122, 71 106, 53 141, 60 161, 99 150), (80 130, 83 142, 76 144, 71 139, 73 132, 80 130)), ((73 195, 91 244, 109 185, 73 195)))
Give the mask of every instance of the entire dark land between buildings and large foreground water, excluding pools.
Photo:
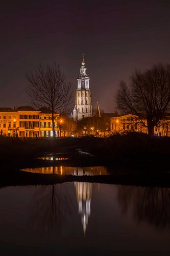
POLYGON ((107 138, 0 138, 0 185, 52 184, 88 181, 129 185, 169 186, 170 138, 129 133, 107 138), (37 157, 53 153, 68 160, 56 162, 37 157), (59 176, 19 171, 24 167, 109 166, 110 176, 59 176))

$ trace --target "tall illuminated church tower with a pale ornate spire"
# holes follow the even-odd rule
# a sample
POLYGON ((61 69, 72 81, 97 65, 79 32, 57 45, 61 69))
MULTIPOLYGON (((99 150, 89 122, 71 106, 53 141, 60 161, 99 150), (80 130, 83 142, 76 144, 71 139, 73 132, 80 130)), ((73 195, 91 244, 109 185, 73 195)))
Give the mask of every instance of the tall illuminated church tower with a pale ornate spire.
POLYGON ((91 92, 89 87, 89 77, 86 72, 84 54, 82 58, 82 66, 78 77, 78 87, 76 89, 76 104, 73 111, 74 120, 81 120, 84 117, 92 116, 91 92))

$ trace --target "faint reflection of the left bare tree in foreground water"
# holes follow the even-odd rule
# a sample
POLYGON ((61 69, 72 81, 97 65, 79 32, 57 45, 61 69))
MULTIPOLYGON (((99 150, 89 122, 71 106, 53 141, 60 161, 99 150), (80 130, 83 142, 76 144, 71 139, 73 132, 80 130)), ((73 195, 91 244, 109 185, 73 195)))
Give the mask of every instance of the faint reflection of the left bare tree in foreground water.
POLYGON ((29 226, 60 232, 71 213, 71 204, 71 197, 62 185, 40 186, 30 208, 29 226))

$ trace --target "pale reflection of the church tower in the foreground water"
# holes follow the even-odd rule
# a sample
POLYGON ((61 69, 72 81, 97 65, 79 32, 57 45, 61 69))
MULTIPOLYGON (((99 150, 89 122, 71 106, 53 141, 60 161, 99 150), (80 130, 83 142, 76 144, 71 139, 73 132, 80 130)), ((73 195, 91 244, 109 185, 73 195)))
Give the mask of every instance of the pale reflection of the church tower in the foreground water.
POLYGON ((82 225, 84 233, 90 216, 90 200, 92 194, 92 183, 75 182, 76 194, 79 206, 79 214, 82 216, 82 225))

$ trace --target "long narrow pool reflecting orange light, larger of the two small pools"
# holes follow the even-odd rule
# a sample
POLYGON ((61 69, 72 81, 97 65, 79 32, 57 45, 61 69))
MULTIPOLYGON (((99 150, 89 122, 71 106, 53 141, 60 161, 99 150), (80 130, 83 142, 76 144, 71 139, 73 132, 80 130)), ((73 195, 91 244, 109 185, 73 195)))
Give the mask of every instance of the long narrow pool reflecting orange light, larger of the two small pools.
POLYGON ((107 175, 107 169, 104 166, 93 166, 93 167, 69 167, 69 166, 46 166, 46 167, 35 167, 23 169, 30 173, 40 174, 71 174, 76 176, 83 175, 107 175))

